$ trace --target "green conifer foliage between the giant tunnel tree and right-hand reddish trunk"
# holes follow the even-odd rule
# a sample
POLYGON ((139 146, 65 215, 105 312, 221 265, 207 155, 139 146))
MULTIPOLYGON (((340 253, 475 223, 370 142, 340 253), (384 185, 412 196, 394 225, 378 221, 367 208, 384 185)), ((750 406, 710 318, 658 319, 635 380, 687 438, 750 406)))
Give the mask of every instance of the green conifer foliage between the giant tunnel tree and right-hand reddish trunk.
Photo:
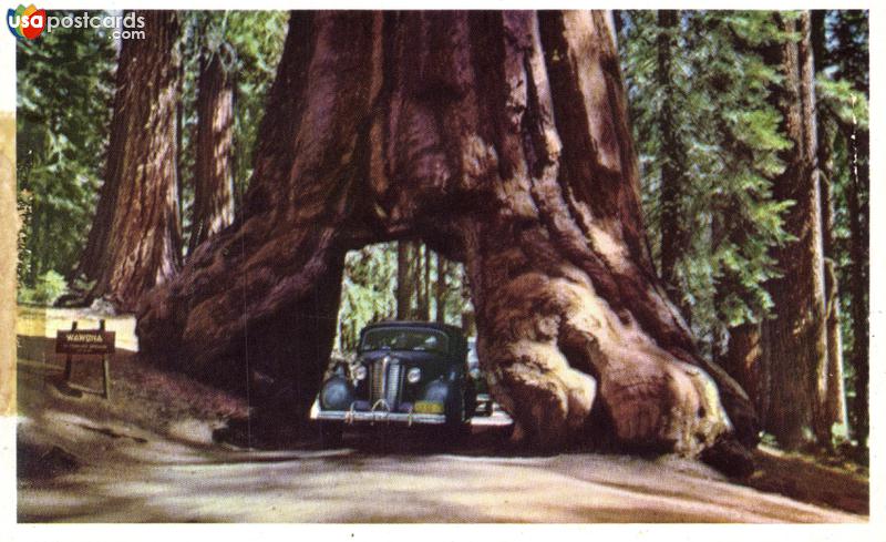
MULTIPOLYGON (((660 110, 672 96, 674 135, 683 149, 683 185, 677 202, 689 232, 678 257, 676 286, 687 315, 708 349, 729 327, 765 318, 772 300, 764 283, 779 270, 771 246, 789 241, 782 227, 787 204, 774 202, 771 178, 790 142, 769 101, 777 81, 761 48, 786 37, 770 13, 683 11, 670 51, 669 88, 657 78, 658 27, 653 11, 622 13, 619 45, 635 139, 640 154, 642 204, 653 258, 661 258, 661 164, 674 150, 663 144, 660 110)), ((789 16, 790 17, 790 16, 789 16)))

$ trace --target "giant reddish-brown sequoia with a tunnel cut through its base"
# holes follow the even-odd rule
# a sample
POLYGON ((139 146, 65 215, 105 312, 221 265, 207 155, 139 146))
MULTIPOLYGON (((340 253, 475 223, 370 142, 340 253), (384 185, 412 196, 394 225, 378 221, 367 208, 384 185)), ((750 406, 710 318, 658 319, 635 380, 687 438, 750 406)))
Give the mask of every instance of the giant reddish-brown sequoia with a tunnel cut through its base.
POLYGON ((293 13, 244 214, 140 313, 145 351, 306 409, 342 255, 418 237, 464 262, 492 390, 536 442, 697 453, 753 410, 656 277, 602 12, 293 13))

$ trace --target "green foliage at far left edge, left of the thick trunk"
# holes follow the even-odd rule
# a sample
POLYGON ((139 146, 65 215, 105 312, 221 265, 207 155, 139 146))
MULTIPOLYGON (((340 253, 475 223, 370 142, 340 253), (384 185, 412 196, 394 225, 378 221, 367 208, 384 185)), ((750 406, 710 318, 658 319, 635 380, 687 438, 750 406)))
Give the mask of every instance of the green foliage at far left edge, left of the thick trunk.
POLYGON ((114 93, 114 42, 105 30, 55 28, 17 41, 19 283, 66 273, 97 202, 114 93))

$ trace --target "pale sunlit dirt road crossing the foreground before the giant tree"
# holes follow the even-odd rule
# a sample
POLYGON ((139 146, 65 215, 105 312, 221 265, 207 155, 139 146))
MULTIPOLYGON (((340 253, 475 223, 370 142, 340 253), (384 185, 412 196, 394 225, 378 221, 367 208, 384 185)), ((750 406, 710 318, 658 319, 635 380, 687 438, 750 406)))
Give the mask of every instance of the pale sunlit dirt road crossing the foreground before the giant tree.
MULTIPOLYGON (((34 423, 34 422, 31 422, 34 423)), ((47 412, 96 464, 20 487, 20 521, 846 522, 862 518, 735 485, 696 462, 622 456, 226 451, 47 412), (106 451, 106 450, 103 450, 106 451)), ((22 431, 40 432, 25 423, 22 431)), ((69 440, 70 439, 70 440, 69 440)), ((84 456, 80 456, 84 454, 84 456)))

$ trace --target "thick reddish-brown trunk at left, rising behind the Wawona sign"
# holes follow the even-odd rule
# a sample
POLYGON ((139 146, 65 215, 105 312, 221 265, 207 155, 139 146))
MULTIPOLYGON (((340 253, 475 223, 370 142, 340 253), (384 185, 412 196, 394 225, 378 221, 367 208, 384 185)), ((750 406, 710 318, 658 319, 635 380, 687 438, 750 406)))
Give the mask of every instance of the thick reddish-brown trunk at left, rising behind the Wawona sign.
POLYGON ((95 280, 87 299, 135 310, 181 258, 176 166, 178 14, 143 11, 143 40, 124 40, 95 218, 75 276, 95 280))

